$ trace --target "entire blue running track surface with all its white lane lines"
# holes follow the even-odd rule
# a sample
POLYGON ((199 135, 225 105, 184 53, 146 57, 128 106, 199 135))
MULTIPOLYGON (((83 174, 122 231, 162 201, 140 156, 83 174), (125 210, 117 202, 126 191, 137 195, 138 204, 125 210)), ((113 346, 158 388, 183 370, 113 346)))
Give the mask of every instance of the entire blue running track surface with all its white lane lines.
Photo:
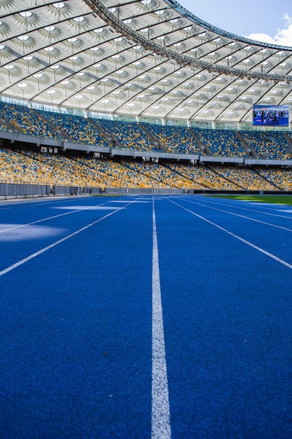
POLYGON ((291 214, 2 201, 1 438, 291 438, 291 214))

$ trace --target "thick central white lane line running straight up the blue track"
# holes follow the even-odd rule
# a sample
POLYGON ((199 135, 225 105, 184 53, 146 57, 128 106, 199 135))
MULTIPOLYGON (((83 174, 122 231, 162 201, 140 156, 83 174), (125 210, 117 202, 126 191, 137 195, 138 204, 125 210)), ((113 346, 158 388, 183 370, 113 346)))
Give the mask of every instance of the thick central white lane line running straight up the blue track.
POLYGON ((153 198, 153 257, 152 257, 152 417, 151 439, 172 437, 169 414, 165 335, 163 330, 158 241, 153 198))

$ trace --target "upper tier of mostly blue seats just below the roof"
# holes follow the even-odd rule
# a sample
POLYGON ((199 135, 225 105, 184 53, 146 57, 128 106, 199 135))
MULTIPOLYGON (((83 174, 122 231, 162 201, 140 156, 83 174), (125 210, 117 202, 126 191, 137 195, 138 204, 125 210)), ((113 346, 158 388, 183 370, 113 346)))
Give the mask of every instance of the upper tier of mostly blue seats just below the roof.
POLYGON ((159 126, 29 109, 0 102, 0 131, 64 142, 179 154, 289 159, 292 135, 275 131, 210 130, 159 126))

